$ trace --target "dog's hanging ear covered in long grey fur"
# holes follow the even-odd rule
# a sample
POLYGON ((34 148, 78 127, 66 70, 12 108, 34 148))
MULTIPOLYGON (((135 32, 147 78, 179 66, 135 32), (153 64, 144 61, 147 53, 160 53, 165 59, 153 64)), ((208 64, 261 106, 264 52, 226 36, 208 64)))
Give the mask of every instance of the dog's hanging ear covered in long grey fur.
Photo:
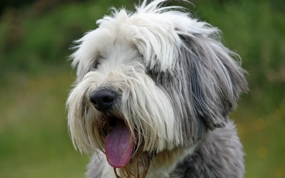
POLYGON ((246 72, 236 61, 240 58, 220 40, 204 34, 180 37, 178 61, 188 69, 188 98, 195 116, 210 129, 223 127, 241 92, 248 90, 246 72))

